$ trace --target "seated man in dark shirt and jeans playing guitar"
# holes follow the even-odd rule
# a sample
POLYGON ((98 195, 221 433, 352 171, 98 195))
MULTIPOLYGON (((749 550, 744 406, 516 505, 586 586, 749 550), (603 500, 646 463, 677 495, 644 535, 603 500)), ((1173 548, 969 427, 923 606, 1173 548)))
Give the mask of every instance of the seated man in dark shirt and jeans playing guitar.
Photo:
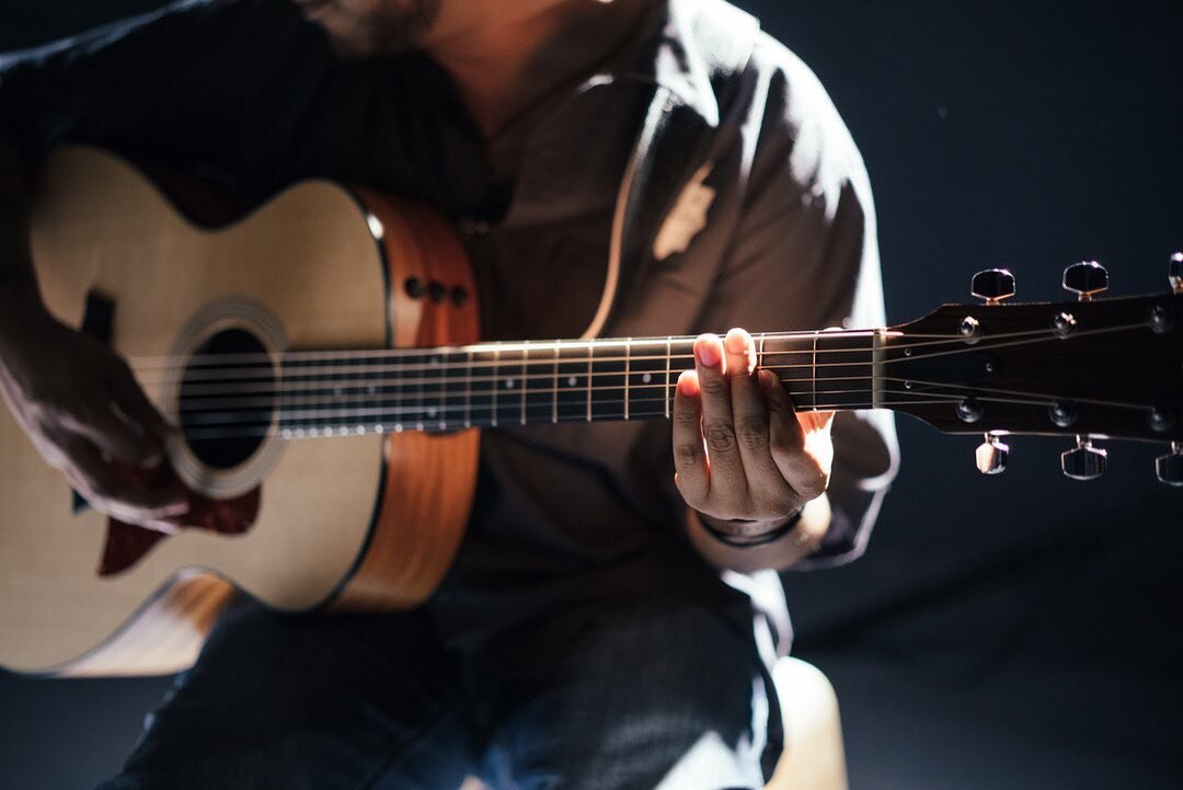
MULTIPOLYGON (((883 323, 849 135, 722 2, 177 4, 0 60, 0 386, 92 505, 149 526, 182 497, 110 465, 157 456, 166 420, 33 277, 30 184, 63 142, 248 203, 309 177, 427 203, 464 233, 489 339, 883 323)), ((702 336, 670 421, 485 432, 426 606, 234 607, 103 786, 762 786, 788 633, 757 571, 861 551, 894 438, 845 413, 832 441, 756 352, 702 336)))

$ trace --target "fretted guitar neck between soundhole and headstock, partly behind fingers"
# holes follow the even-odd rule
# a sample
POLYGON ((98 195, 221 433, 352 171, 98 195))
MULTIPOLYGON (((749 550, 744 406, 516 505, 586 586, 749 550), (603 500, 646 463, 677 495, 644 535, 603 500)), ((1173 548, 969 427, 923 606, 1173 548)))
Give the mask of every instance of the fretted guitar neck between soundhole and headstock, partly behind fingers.
MULTIPOLYGON (((799 409, 872 408, 883 330, 765 332, 758 364, 799 409)), ((291 438, 668 417, 694 337, 289 352, 278 430, 291 438)))

